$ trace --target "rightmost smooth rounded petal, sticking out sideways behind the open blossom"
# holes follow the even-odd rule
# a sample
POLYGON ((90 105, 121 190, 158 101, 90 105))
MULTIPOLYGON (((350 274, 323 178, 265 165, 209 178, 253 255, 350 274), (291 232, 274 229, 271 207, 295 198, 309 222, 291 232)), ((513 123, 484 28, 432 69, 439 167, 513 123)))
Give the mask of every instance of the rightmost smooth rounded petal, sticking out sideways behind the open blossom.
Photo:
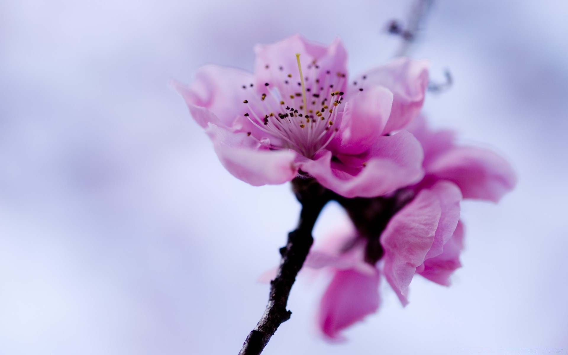
POLYGON ((511 165, 494 152, 473 147, 456 147, 438 156, 427 174, 446 179, 460 187, 463 198, 498 202, 515 187, 517 178, 511 165))

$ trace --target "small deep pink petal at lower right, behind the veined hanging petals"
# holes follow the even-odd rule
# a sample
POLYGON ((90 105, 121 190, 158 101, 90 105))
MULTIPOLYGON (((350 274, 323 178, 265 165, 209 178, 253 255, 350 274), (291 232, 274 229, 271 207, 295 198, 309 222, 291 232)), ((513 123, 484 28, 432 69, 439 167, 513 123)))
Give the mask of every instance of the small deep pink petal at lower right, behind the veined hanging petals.
POLYGON ((420 275, 439 283, 450 285, 450 275, 461 267, 460 252, 463 249, 463 224, 459 222, 448 243, 444 244, 444 252, 424 261, 424 270, 420 275))

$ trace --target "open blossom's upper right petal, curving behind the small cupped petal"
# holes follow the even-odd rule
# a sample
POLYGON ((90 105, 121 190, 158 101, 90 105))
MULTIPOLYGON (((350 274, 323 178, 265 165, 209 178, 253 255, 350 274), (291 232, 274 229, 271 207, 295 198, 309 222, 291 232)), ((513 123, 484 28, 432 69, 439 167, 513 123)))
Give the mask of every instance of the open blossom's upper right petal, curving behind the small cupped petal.
POLYGON ((356 78, 365 90, 370 85, 382 85, 394 94, 383 134, 399 130, 420 112, 428 86, 428 66, 425 60, 399 58, 365 73, 365 79, 356 78))

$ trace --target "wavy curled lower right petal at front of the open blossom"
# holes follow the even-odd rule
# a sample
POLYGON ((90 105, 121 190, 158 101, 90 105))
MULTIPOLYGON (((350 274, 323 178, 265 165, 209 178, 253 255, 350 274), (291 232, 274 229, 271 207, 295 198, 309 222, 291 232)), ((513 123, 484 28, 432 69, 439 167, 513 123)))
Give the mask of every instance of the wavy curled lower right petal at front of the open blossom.
POLYGON ((316 160, 298 161, 298 166, 321 185, 349 198, 384 195, 423 177, 422 148, 406 131, 378 137, 364 159, 344 155, 338 158, 332 161, 332 153, 325 151, 316 160))

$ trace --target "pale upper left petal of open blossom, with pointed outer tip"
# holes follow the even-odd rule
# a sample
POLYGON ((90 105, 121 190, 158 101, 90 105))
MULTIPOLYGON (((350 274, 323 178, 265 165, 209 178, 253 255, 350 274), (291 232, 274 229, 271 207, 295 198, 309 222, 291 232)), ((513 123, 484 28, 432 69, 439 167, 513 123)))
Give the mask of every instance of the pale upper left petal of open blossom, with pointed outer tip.
POLYGON ((190 86, 172 81, 172 86, 185 99, 191 115, 203 128, 211 122, 219 126, 222 122, 231 127, 235 118, 246 111, 244 99, 250 97, 248 85, 253 82, 251 73, 244 70, 225 68, 218 65, 205 65, 197 70, 190 86), (243 85, 247 89, 243 89, 243 85), (218 121, 208 120, 206 116, 195 115, 192 107, 203 107, 211 111, 218 121))

